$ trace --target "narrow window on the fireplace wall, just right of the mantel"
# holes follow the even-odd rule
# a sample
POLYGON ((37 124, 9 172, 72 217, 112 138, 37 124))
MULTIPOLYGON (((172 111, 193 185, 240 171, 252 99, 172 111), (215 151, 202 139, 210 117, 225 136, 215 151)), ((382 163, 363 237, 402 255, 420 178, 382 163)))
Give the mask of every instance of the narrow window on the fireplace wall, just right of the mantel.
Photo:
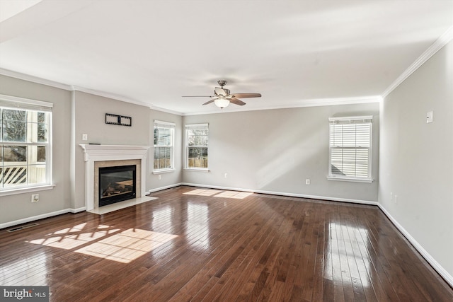
POLYGON ((172 122, 154 121, 154 172, 174 170, 174 133, 172 122))

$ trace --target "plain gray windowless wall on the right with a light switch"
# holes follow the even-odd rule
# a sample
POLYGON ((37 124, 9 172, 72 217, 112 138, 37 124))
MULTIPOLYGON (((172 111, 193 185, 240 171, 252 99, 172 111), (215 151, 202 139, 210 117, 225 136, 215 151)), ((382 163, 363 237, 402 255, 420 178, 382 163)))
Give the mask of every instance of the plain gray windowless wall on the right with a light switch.
POLYGON ((384 99, 381 121, 379 203, 451 278, 453 42, 384 99))

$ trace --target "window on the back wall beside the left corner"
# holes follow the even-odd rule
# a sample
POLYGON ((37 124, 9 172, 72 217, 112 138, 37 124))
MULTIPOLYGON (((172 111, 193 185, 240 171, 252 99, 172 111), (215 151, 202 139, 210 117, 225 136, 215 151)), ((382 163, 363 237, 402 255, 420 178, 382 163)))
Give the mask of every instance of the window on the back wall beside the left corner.
POLYGON ((185 168, 207 170, 208 124, 185 125, 185 168))

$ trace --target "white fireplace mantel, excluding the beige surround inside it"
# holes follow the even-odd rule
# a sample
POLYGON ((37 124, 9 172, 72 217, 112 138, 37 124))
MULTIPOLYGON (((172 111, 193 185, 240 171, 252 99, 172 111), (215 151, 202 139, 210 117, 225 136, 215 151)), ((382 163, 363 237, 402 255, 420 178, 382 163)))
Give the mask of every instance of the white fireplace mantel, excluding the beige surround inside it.
POLYGON ((85 207, 86 211, 94 208, 94 163, 96 161, 127 161, 141 160, 140 197, 146 194, 147 185, 147 154, 150 146, 130 145, 89 145, 81 144, 85 160, 85 207))

